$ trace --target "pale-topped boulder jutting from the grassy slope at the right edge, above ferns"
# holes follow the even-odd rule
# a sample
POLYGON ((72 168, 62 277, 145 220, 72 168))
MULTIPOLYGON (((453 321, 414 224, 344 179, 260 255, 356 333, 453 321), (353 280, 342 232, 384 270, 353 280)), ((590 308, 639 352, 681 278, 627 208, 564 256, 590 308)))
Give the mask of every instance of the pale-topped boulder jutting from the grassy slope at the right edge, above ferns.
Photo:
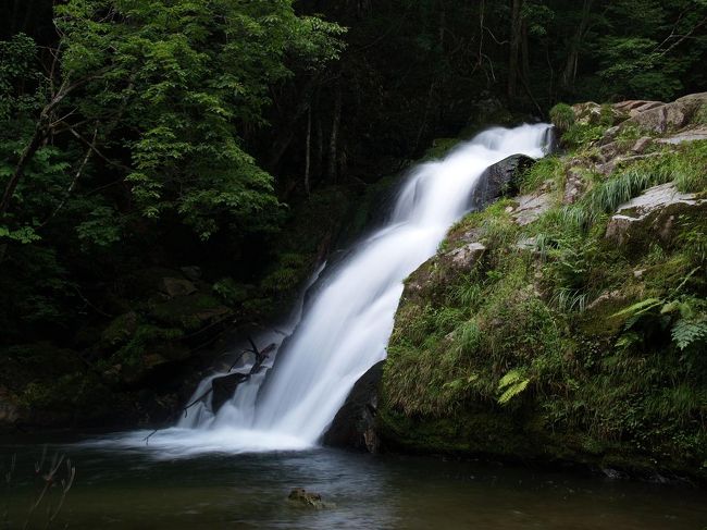
POLYGON ((623 246, 645 247, 656 238, 669 244, 679 217, 684 221, 706 213, 707 199, 681 194, 672 183, 661 184, 621 205, 609 221, 606 238, 623 246))

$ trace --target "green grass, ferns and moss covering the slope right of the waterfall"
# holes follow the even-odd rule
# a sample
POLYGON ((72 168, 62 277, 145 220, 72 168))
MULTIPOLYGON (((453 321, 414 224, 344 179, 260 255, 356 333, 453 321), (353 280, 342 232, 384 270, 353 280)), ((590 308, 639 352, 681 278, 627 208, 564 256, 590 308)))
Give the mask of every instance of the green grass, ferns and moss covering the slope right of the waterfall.
MULTIPOLYGON (((597 131, 609 125, 606 114, 597 131)), ((619 136, 628 145, 637 132, 619 136)), ((594 163, 579 147, 537 163, 523 192, 561 184, 566 167, 594 163)), ((705 167, 700 141, 656 145, 608 176, 586 170, 579 201, 526 226, 506 211, 512 201, 455 225, 442 251, 470 238, 487 250, 466 271, 438 255, 411 280, 384 373, 383 421, 412 423, 395 439, 471 421, 481 441, 459 430, 421 445, 508 455, 530 445, 554 457, 622 455, 628 467, 696 469, 707 457, 704 222, 675 217, 670 244, 646 237, 630 254, 605 235, 616 208, 648 187, 674 182, 704 193, 705 167), (489 442, 497 422, 514 426, 524 442, 489 442)))

